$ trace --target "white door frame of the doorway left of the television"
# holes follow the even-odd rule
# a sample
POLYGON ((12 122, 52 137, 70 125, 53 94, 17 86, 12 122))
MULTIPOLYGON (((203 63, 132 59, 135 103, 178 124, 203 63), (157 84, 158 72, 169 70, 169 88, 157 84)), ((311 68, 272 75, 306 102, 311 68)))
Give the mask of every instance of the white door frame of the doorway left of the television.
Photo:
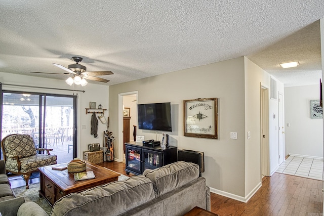
MULTIPOLYGON (((137 99, 138 99, 138 91, 133 91, 133 92, 125 92, 125 93, 119 93, 118 94, 118 162, 123 162, 123 157, 124 157, 124 136, 123 136, 123 131, 124 131, 124 115, 123 115, 123 100, 124 96, 128 95, 136 95, 136 105, 137 105, 137 99)), ((137 113, 136 113, 136 119, 137 119, 137 113)), ((138 127, 136 127, 138 130, 138 127)), ((137 134, 137 132, 136 132, 137 134)))

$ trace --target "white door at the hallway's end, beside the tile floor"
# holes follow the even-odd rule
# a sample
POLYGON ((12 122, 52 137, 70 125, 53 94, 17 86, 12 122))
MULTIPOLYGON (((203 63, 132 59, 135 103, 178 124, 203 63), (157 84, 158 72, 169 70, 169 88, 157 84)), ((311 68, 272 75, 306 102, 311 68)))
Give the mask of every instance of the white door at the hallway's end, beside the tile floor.
POLYGON ((279 164, 285 160, 284 96, 278 97, 279 164))

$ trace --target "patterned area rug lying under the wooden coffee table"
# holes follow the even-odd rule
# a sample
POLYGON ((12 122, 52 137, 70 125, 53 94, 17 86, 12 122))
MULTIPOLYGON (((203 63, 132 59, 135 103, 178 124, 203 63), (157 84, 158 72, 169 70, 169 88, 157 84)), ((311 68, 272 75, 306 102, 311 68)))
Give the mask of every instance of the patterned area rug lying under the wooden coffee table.
MULTIPOLYGON (((128 178, 128 176, 120 174, 118 181, 124 181, 128 178)), ((26 202, 35 202, 37 205, 41 206, 47 214, 51 213, 52 206, 50 206, 50 204, 43 197, 39 197, 38 195, 39 183, 29 184, 29 189, 27 190, 25 189, 25 186, 13 188, 12 190, 15 192, 16 197, 23 196, 26 202)))

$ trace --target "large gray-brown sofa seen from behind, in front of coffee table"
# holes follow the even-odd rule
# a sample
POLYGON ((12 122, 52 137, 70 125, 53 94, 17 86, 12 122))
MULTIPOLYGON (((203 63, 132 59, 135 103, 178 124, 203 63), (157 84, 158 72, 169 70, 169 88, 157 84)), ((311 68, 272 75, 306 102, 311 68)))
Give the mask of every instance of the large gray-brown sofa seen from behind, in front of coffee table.
POLYGON ((183 215, 193 207, 210 210, 210 189, 199 167, 178 161, 126 181, 112 182, 59 199, 51 216, 183 215))

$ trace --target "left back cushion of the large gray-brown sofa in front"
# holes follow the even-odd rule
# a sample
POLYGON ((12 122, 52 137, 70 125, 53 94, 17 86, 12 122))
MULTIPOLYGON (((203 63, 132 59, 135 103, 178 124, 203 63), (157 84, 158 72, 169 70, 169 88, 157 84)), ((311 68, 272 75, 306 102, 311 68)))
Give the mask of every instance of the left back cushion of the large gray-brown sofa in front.
POLYGON ((59 199, 51 215, 118 215, 155 198, 152 182, 133 176, 59 199))

